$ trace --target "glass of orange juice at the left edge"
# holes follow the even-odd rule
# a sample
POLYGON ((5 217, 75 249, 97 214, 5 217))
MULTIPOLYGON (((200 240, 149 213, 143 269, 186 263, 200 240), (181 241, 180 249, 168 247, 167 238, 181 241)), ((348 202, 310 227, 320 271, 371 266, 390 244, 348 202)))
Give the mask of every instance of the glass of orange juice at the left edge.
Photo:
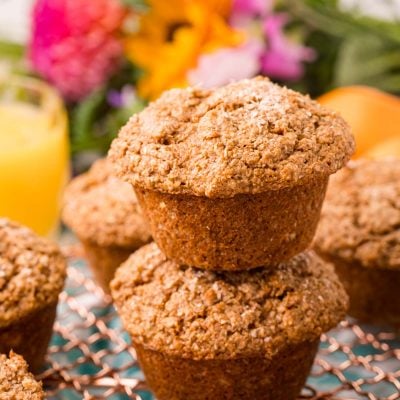
POLYGON ((0 217, 53 236, 69 176, 67 116, 42 81, 0 81, 0 217))

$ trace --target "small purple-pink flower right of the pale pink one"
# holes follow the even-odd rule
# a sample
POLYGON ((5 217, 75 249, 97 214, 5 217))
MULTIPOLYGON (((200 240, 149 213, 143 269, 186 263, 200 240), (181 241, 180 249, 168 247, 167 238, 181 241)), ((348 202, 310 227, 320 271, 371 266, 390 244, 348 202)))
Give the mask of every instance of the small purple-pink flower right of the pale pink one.
POLYGON ((306 61, 315 59, 313 49, 290 42, 283 32, 285 14, 274 14, 264 20, 268 47, 261 59, 262 72, 271 78, 297 80, 304 74, 306 61))

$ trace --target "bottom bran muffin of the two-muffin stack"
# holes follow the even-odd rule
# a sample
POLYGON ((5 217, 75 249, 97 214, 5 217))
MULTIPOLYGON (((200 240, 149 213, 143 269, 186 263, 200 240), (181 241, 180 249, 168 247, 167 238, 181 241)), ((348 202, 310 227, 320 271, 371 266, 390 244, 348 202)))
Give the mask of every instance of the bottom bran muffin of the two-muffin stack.
POLYGON ((333 267, 313 252, 273 269, 207 271, 151 243, 111 290, 159 400, 295 399, 319 336, 347 307, 333 267))

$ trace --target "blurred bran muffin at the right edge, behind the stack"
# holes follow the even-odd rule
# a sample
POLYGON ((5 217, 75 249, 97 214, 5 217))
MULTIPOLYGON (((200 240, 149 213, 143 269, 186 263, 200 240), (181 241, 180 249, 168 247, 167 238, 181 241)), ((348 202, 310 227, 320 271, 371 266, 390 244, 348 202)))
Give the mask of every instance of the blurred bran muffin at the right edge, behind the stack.
POLYGON ((350 315, 400 327, 400 159, 352 162, 332 177, 314 247, 350 296, 350 315))

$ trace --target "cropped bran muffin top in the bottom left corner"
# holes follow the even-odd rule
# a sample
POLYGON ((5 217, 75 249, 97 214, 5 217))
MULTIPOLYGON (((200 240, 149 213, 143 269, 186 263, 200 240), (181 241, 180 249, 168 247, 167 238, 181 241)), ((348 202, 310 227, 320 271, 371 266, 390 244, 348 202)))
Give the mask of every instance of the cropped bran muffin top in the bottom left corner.
POLYGON ((25 360, 10 352, 0 354, 0 400, 43 400, 42 384, 35 381, 25 360))

